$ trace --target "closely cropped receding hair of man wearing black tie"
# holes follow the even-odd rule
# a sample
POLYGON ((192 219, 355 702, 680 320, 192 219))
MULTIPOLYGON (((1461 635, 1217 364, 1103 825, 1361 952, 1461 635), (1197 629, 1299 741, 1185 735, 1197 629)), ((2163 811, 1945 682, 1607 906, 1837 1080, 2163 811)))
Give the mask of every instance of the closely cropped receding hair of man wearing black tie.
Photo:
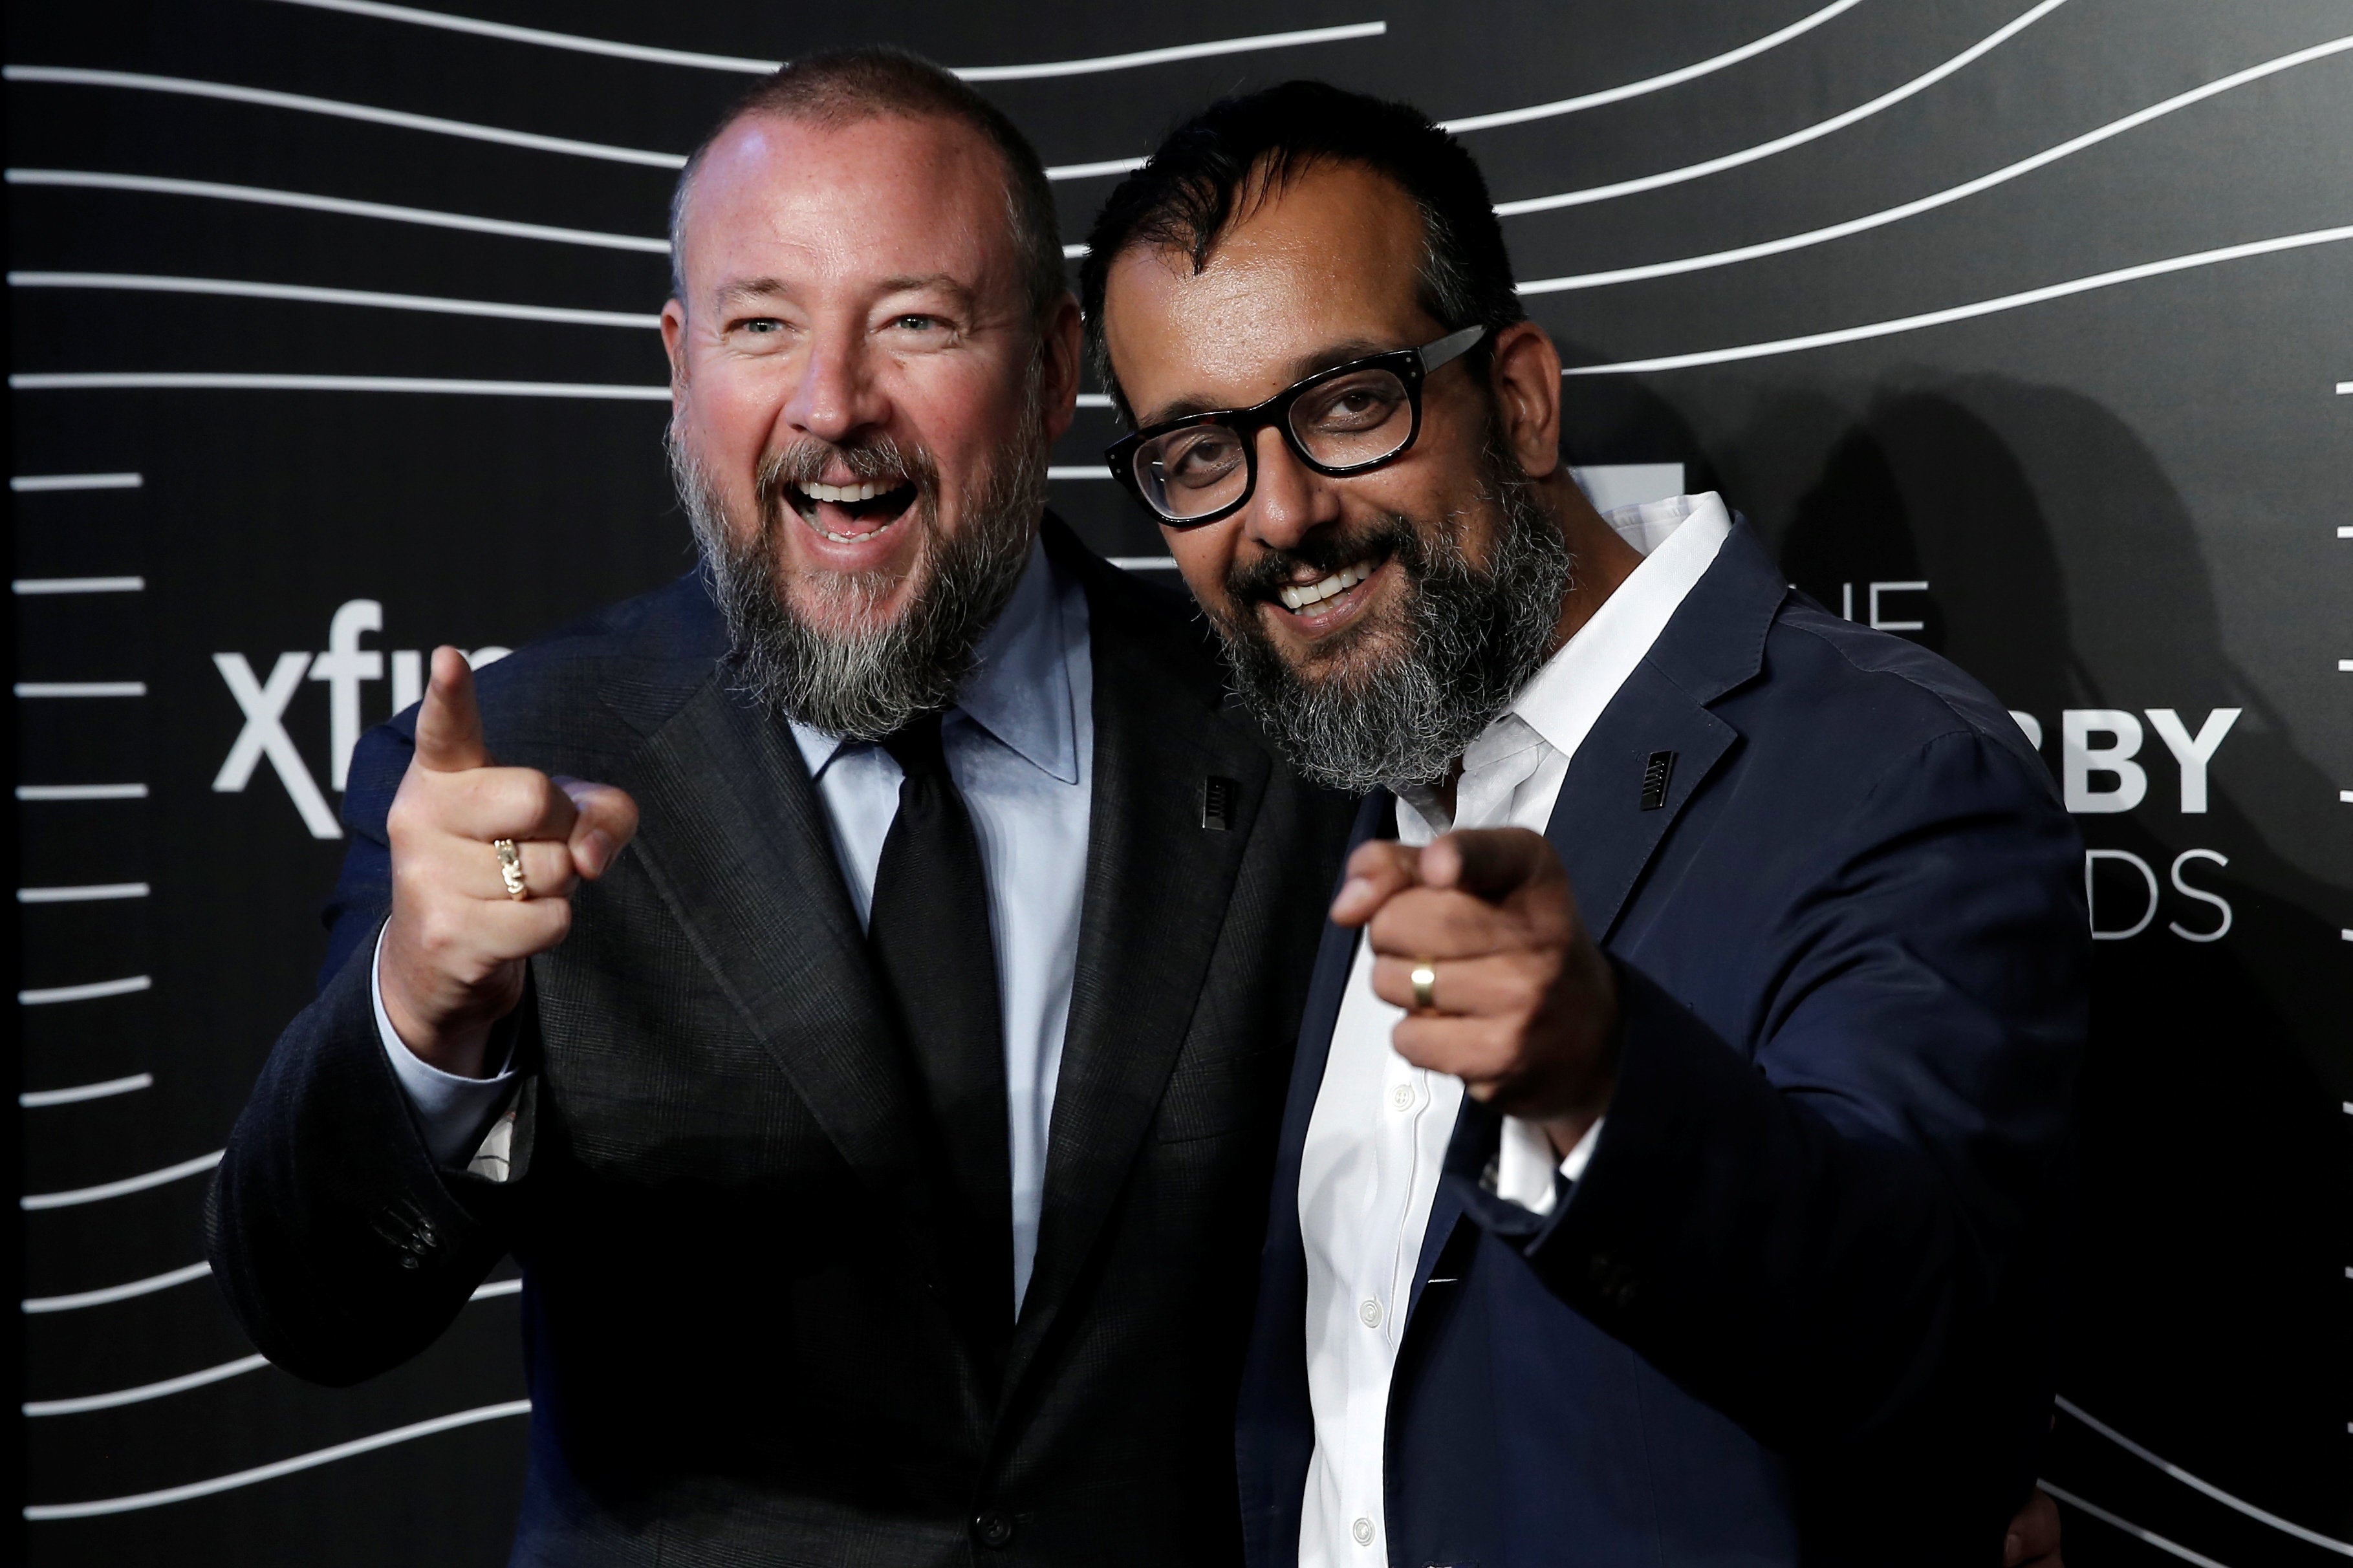
POLYGON ((1038 148, 1028 143, 995 103, 941 71, 920 54, 889 47, 819 49, 760 78, 736 99, 701 146, 687 158, 671 193, 671 294, 685 296, 680 242, 685 237, 687 193, 704 165, 704 153, 744 115, 776 115, 807 125, 854 125, 882 115, 911 120, 953 120, 979 132, 1005 160, 1005 221, 1021 256, 1021 287, 1031 310, 1045 315, 1068 284, 1061 270, 1061 226, 1054 216, 1054 188, 1047 186, 1038 148))

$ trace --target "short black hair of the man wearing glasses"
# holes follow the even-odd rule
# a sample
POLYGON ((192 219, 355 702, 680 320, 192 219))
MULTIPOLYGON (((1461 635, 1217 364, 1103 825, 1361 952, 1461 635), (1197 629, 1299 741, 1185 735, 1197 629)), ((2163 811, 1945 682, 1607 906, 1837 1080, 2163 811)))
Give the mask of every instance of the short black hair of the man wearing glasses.
POLYGON ((1320 162, 1351 162, 1395 181, 1421 214, 1421 308, 1447 331, 1485 327, 1471 367, 1485 369, 1494 336, 1527 320, 1494 219, 1487 179, 1471 153, 1412 103, 1391 103, 1329 82, 1282 82, 1219 99, 1120 181, 1087 235, 1080 308, 1087 355, 1120 414, 1132 414, 1104 341, 1111 263, 1136 247, 1186 252, 1209 266, 1226 228, 1320 162))

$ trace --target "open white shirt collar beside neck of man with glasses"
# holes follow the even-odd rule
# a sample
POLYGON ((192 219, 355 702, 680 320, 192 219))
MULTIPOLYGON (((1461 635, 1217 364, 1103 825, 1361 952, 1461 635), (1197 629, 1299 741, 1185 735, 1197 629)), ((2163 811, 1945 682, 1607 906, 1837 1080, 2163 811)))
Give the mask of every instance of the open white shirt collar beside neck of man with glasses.
POLYGON ((1642 564, 1511 701, 1511 712, 1565 757, 1577 755, 1732 534, 1732 512, 1715 491, 1621 505, 1602 520, 1642 552, 1642 564))

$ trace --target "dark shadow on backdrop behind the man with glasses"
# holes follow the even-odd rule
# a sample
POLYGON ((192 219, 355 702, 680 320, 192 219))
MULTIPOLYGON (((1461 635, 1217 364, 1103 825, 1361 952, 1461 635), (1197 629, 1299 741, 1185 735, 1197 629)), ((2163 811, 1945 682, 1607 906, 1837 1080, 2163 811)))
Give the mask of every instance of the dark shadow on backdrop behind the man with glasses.
MULTIPOLYGON (((1577 362, 1577 348, 1565 355, 1577 362)), ((2353 997, 2339 938, 2353 898, 2282 853, 2332 827, 2337 785, 2233 665, 2184 501, 2118 416, 2059 388, 1911 369, 1852 397, 1692 390, 1687 414, 1645 383, 1572 378, 1577 461, 1685 461, 1689 489, 1725 489, 1833 611, 1868 618, 1871 583, 1929 583, 1887 590, 1882 618, 1918 621, 1901 635, 2031 712, 2054 771, 2064 710, 2144 717, 2146 799, 2078 816, 2087 846, 2137 856, 2158 889, 2151 910, 2139 867, 2097 863, 2099 926, 2151 919, 2094 945, 2061 1392, 2257 1507, 2353 1535, 2353 997), (2179 809, 2148 708, 2177 710, 2191 733, 2214 708, 2242 710, 2205 813, 2179 809), (2177 865, 2228 903, 2219 940, 2191 940, 2221 910, 2186 896, 2177 865)), ((2059 1418, 2045 1474, 2221 1561, 2341 1561, 2073 1418, 2059 1418)), ((2078 1568, 2169 1561, 2082 1514, 2066 1554, 2078 1568)))

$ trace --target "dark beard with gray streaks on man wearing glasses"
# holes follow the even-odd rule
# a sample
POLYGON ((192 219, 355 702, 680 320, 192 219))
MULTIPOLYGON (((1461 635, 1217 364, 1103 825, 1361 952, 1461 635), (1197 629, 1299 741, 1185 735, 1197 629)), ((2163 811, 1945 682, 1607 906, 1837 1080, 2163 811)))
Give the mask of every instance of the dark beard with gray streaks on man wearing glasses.
POLYGON ((1572 557, 1560 524, 1518 461, 1489 444, 1478 503, 1497 515, 1492 559, 1468 562, 1452 512, 1438 524, 1388 515, 1341 538, 1308 538, 1226 578, 1228 614, 1212 614, 1235 689, 1311 783, 1348 795, 1445 780, 1454 762, 1553 651, 1572 557), (1391 557, 1407 590, 1379 623, 1348 628, 1301 675, 1259 621, 1294 569, 1318 576, 1391 557))

